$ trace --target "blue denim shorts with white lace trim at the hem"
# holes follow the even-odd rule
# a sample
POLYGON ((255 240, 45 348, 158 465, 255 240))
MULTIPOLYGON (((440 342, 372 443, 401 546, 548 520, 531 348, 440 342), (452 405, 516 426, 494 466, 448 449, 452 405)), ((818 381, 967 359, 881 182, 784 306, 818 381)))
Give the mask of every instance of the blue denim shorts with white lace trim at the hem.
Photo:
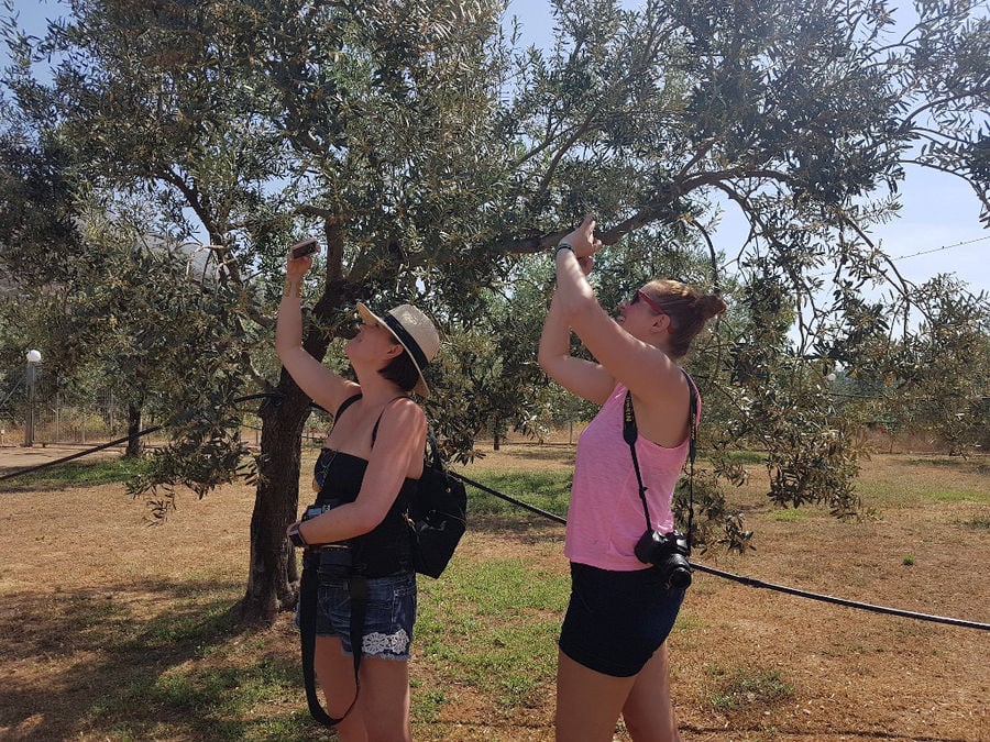
MULTIPOLYGON (((408 660, 416 622, 416 573, 367 579, 367 612, 361 652, 366 657, 408 660)), ((338 636, 351 654, 351 594, 348 578, 320 575, 317 636, 338 636)))

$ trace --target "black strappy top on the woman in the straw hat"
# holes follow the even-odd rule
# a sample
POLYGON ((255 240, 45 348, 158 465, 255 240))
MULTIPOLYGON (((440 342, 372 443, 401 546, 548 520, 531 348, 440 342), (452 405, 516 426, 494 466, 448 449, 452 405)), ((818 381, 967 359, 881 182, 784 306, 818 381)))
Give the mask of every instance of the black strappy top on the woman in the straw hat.
MULTIPOLYGON (((352 397, 341 405, 334 423, 350 405, 352 397)), ((375 432, 377 432, 375 423, 375 432)), ((374 444, 375 433, 372 433, 374 444)), ((314 467, 314 478, 320 484, 316 505, 345 505, 358 499, 367 461, 333 448, 322 448, 314 467)), ((350 539, 353 550, 354 572, 367 577, 384 577, 413 572, 413 528, 406 516, 413 498, 419 489, 418 479, 403 481, 398 495, 385 518, 367 533, 350 539)))

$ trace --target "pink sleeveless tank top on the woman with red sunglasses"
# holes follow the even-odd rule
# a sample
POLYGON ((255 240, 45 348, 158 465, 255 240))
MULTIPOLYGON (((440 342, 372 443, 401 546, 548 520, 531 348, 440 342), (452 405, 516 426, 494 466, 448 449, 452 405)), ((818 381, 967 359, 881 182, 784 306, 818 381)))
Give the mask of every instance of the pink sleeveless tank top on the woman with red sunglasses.
MULTIPOLYGON (((623 438, 623 402, 626 387, 616 385, 612 396, 578 439, 578 457, 564 554, 571 562, 601 569, 631 572, 648 565, 636 558, 632 549, 646 531, 639 485, 632 468, 629 444, 623 438)), ((701 419, 701 399, 697 406, 701 419)), ((689 440, 676 448, 636 439, 636 456, 654 530, 673 530, 670 509, 674 486, 688 458, 689 440)))

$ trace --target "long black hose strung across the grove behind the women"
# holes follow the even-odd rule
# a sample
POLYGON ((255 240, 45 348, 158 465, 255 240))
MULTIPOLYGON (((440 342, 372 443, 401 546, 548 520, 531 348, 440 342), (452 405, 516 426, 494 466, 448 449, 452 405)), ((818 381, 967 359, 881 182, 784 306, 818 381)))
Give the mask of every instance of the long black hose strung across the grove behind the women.
MULTIPOLYGON (((246 397, 238 397, 233 400, 232 403, 237 405, 239 402, 246 402, 252 399, 277 399, 280 398, 282 395, 273 394, 273 392, 261 392, 256 395, 248 395, 246 397)), ((317 407, 317 406, 314 406, 317 407)), ((319 408, 322 409, 322 408, 319 408)), ((154 428, 147 428, 142 430, 133 435, 127 435, 124 438, 118 439, 116 441, 111 441, 110 443, 103 443, 101 445, 95 446, 92 448, 87 448, 86 451, 80 451, 79 453, 72 454, 69 456, 65 456, 63 458, 57 458, 55 461, 45 462, 44 464, 38 464, 37 466, 30 466, 24 469, 20 469, 18 472, 12 472, 10 474, 0 475, 0 481, 6 479, 12 479, 13 477, 19 477, 24 474, 30 474, 31 472, 38 472, 41 469, 47 468, 50 466, 55 466, 57 464, 64 464, 66 462, 70 462, 75 458, 80 458, 82 456, 87 456, 91 453, 96 453, 97 451, 103 451, 105 448, 109 448, 114 445, 121 445, 122 443, 127 443, 131 439, 138 439, 143 435, 147 435, 150 433, 154 433, 155 431, 165 428, 168 423, 162 425, 155 425, 154 428)), ((455 472, 451 472, 451 476, 460 479, 465 485, 471 485, 472 487, 482 490, 483 492, 487 492, 488 495, 494 495, 506 502, 510 502, 516 507, 522 508, 525 510, 529 510, 538 516, 542 516, 549 520, 556 521, 561 524, 565 524, 568 521, 564 518, 561 518, 558 514, 549 512, 547 510, 541 510, 536 506, 529 505, 528 502, 524 502, 522 500, 516 499, 515 497, 510 497, 509 495, 505 495, 499 492, 496 489, 492 489, 491 487, 486 487, 485 485, 475 481, 474 479, 470 479, 462 474, 457 474, 455 472)), ((868 602, 859 602, 857 600, 846 600, 845 598, 836 598, 831 595, 822 595, 821 593, 810 593, 807 590, 800 590, 793 587, 787 587, 785 585, 774 585, 773 583, 766 583, 761 579, 756 579, 754 577, 746 577, 744 575, 736 575, 732 572, 724 572, 722 569, 716 569, 714 567, 706 566, 704 564, 698 564, 696 562, 692 562, 691 566, 697 569, 698 572, 705 572, 710 575, 715 575, 716 577, 724 577, 725 579, 730 579, 736 583, 741 583, 748 587, 758 587, 766 588, 769 590, 774 590, 777 593, 785 593, 788 595, 794 595, 799 598, 809 598, 811 600, 821 600, 822 602, 831 602, 837 606, 845 606, 847 608, 858 608, 860 610, 873 611, 875 613, 886 613, 888 616, 900 616, 902 618, 916 619, 919 621, 931 621, 934 623, 947 623, 949 625, 963 627, 966 629, 979 629, 980 631, 990 631, 990 623, 979 623, 978 621, 967 621, 965 619, 956 619, 948 618, 945 616, 930 616, 927 613, 916 613, 914 611, 901 610, 899 608, 887 608, 886 606, 873 606, 868 602)))

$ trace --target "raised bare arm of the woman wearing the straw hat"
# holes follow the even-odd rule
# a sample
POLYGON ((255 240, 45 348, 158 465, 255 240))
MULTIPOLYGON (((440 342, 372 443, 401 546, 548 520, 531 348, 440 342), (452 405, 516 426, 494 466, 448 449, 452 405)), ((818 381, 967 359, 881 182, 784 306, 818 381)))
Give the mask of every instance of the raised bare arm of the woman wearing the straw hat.
POLYGON ((302 276, 311 266, 312 259, 308 256, 289 256, 286 262, 285 290, 275 325, 275 352, 299 388, 317 405, 332 412, 359 387, 331 372, 302 347, 302 276))

